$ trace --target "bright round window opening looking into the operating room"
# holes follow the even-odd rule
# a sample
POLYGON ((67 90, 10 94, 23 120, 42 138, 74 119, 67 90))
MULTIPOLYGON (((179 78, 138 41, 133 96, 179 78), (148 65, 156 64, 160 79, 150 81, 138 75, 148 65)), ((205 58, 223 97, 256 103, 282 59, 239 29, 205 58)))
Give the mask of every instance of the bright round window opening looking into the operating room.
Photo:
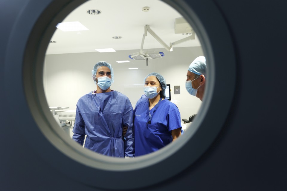
MULTIPOLYGON (((87 1, 57 24, 51 39, 58 43, 50 43, 46 51, 43 84, 53 117, 74 141, 103 155, 131 158, 160 150, 184 137, 181 135, 193 121, 189 118, 201 106, 202 97, 190 96, 185 88, 187 68, 196 57, 204 56, 199 38, 170 5, 159 0, 145 3, 150 10, 143 14, 141 9, 134 11, 138 5, 129 1, 87 1), (109 6, 115 3, 118 5, 109 6), (83 10, 90 7, 101 7, 106 14, 87 17, 83 10), (120 19, 115 17, 118 9, 125 10, 120 19), (151 19, 155 17, 156 20, 151 19), (123 39, 111 40, 115 33, 123 39), (111 52, 106 52, 107 49, 111 52), (99 61, 111 64, 108 70, 113 70, 111 76, 107 74, 112 84, 104 87, 108 88, 105 91, 100 89, 102 84, 99 87, 93 82, 106 75, 100 68, 103 63, 96 64, 99 61), (157 76, 146 78, 152 81, 145 85, 145 77, 154 72, 157 76), (92 74, 97 78, 93 79, 92 74), (144 86, 160 85, 163 85, 161 93, 158 88, 157 98, 149 99, 150 106, 154 102, 158 104, 154 104, 154 109, 150 107, 151 116, 147 118, 149 108, 144 86), (100 90, 103 94, 99 94, 100 90), (128 99, 121 104, 123 96, 128 99), (140 98, 145 101, 139 101, 140 98), (164 98, 162 103, 160 98, 164 98), (141 105, 136 107, 138 102, 141 105)), ((199 72, 207 77, 205 70, 199 72)), ((191 74, 188 80, 194 77, 191 74)), ((199 83, 200 79, 194 81, 199 83)), ((204 84, 195 85, 199 94, 204 92, 204 84)))

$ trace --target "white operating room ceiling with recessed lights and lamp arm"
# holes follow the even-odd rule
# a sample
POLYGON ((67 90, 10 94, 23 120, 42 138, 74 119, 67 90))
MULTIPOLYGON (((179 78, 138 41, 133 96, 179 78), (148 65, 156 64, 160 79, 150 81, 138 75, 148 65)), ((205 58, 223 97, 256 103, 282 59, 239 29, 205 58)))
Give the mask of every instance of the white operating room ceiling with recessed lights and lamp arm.
MULTIPOLYGON (((169 46, 185 38, 175 34, 175 18, 182 17, 168 4, 159 0, 90 0, 72 11, 62 22, 79 21, 89 30, 63 32, 56 29, 46 54, 96 52, 99 48, 115 50, 140 50, 144 26, 150 28, 169 46), (143 7, 150 7, 143 12, 143 7), (87 10, 97 9, 102 13, 90 15, 87 10), (113 39, 113 36, 122 36, 113 39)), ((201 46, 195 34, 194 40, 174 47, 201 46)), ((163 48, 149 33, 144 40, 144 50, 163 48)))

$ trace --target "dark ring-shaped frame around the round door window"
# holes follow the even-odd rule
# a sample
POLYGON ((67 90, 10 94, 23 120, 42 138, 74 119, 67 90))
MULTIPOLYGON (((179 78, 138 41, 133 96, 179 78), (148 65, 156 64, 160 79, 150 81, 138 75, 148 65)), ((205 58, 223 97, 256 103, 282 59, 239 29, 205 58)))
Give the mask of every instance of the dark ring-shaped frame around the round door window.
MULTIPOLYGON (((15 50, 20 49, 18 52, 22 53, 24 58, 22 61, 20 56, 19 58, 10 56, 8 58, 11 60, 7 61, 15 63, 10 66, 11 68, 23 68, 23 83, 19 86, 25 90, 25 97, 20 99, 25 100, 27 106, 19 110, 27 113, 27 123, 30 129, 27 131, 19 127, 19 131, 27 137, 33 135, 31 147, 55 165, 59 171, 73 176, 77 181, 104 189, 123 190, 150 186, 192 165, 212 144, 225 122, 235 85, 233 44, 225 20, 215 4, 212 1, 164 1, 181 13, 194 27, 193 30, 200 39, 203 53, 207 58, 206 95, 196 120, 192 124, 193 129, 186 131, 184 138, 178 139, 157 152, 136 158, 119 159, 83 149, 57 128, 58 124, 51 115, 43 87, 45 53, 56 30, 55 26, 86 1, 50 0, 49 2, 39 5, 34 11, 34 19, 31 19, 31 14, 26 13, 34 10, 33 4, 36 0, 29 1, 23 11, 23 17, 19 18, 19 23, 14 29, 22 32, 20 36, 24 40, 17 45, 11 45, 7 50, 7 55, 13 55, 15 50), (24 30, 21 23, 26 24, 24 30), (215 28, 220 28, 220 30, 214 30, 215 28), (26 42, 29 43, 26 44, 26 42), (225 76, 224 79, 222 76, 225 76), (37 142, 36 145, 33 144, 34 141, 37 142), (170 170, 170 164, 175 164, 177 161, 181 161, 177 168, 170 170), (74 169, 77 169, 77 177, 73 173, 74 169), (81 176, 83 174, 85 176, 81 176), (129 177, 129 184, 119 177, 129 177), (109 180, 113 180, 112 183, 109 180)), ((101 11, 104 14, 105 11, 103 9, 101 11)), ((151 11, 152 7, 149 12, 151 11)), ((141 11, 142 14, 149 12, 141 11)), ((11 35, 15 39, 19 38, 17 32, 11 35)), ((55 39, 55 41, 57 41, 55 44, 58 44, 60 39, 55 39)), ((12 78, 12 75, 7 78, 12 78)), ((11 80, 11 83, 17 82, 11 80)))

